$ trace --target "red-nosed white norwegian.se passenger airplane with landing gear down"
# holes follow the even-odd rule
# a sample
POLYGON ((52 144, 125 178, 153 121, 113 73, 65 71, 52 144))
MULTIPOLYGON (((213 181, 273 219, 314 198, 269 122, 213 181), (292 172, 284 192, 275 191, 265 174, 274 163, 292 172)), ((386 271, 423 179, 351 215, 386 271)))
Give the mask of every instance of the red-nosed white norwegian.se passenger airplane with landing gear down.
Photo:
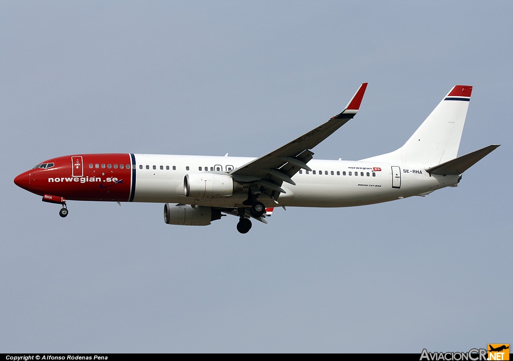
POLYGON ((162 154, 76 154, 48 159, 14 183, 43 201, 164 203, 164 222, 206 226, 231 214, 247 233, 274 207, 352 207, 456 187, 462 173, 500 145, 458 157, 471 86, 453 87, 399 149, 360 161, 313 159, 312 148, 352 119, 363 83, 326 123, 259 158, 162 154))

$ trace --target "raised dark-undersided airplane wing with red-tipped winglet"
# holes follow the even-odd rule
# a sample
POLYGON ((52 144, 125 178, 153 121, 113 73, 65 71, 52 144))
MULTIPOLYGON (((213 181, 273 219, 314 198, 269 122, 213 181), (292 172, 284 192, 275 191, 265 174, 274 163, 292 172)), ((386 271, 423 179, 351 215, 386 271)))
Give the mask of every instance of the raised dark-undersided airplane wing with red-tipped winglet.
POLYGON ((313 152, 310 149, 324 141, 356 115, 366 89, 367 83, 363 83, 346 108, 326 123, 299 138, 295 138, 283 147, 235 168, 230 174, 234 179, 240 179, 241 181, 244 181, 244 179, 253 182, 258 180, 259 185, 266 188, 266 193, 271 194, 271 191, 285 193, 280 187, 282 183, 287 182, 295 185, 290 178, 301 168, 310 170, 306 165, 312 159, 313 152))

